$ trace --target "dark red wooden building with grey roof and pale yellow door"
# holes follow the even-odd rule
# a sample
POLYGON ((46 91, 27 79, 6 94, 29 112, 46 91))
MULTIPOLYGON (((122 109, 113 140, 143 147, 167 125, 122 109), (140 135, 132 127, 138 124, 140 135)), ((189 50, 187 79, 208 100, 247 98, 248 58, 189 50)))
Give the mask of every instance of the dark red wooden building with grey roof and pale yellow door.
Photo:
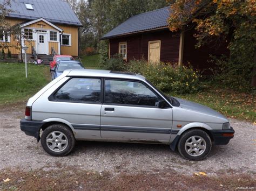
POLYGON ((179 65, 190 63, 196 69, 207 69, 209 54, 226 54, 221 47, 195 48, 194 31, 172 33, 167 24, 170 8, 162 8, 132 16, 105 34, 109 39, 109 57, 121 54, 125 61, 145 59, 149 62, 171 62, 179 65))

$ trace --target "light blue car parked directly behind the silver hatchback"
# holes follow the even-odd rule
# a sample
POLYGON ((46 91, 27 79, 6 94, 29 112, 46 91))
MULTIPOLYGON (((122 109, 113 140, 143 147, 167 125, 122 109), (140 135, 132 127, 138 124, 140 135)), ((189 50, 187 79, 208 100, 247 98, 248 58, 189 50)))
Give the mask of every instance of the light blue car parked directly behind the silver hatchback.
POLYGON ((50 69, 51 80, 56 79, 56 77, 60 76, 66 69, 84 69, 84 66, 81 62, 75 60, 57 61, 56 65, 50 69))

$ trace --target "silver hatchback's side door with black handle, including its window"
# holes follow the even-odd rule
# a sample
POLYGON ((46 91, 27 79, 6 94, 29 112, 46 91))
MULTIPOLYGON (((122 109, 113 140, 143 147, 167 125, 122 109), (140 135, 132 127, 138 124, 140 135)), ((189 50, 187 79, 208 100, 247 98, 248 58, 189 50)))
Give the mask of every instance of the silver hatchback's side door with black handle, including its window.
POLYGON ((169 142, 172 108, 158 108, 160 96, 140 81, 105 79, 100 112, 103 138, 169 142))

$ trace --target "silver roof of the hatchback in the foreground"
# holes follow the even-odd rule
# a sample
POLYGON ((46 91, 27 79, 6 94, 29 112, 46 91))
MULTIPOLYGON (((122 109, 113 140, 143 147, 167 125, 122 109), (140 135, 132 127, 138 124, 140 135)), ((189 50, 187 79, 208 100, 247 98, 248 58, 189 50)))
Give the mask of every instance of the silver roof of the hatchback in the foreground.
POLYGON ((85 76, 85 77, 114 77, 122 79, 132 79, 132 80, 145 80, 145 77, 140 74, 126 73, 126 72, 116 72, 111 70, 102 69, 70 69, 66 71, 66 76, 85 76))

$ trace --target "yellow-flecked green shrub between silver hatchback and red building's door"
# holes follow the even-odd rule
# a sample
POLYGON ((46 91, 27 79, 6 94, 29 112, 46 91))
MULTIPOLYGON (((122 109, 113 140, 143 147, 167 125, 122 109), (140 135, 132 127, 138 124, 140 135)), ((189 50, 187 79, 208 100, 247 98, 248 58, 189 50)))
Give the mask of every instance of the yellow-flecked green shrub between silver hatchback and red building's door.
POLYGON ((131 61, 126 68, 127 72, 144 75, 166 93, 187 94, 195 93, 200 89, 199 72, 185 66, 177 67, 171 63, 153 65, 146 61, 131 61))

